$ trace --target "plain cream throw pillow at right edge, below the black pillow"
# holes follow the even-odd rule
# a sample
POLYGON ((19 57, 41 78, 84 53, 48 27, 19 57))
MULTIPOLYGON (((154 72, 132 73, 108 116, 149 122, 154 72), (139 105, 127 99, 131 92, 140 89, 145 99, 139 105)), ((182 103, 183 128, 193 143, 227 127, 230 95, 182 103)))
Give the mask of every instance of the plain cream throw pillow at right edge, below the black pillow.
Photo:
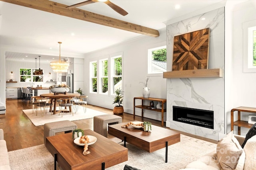
POLYGON ((244 145, 246 154, 244 170, 254 170, 256 167, 256 135, 248 139, 244 145))

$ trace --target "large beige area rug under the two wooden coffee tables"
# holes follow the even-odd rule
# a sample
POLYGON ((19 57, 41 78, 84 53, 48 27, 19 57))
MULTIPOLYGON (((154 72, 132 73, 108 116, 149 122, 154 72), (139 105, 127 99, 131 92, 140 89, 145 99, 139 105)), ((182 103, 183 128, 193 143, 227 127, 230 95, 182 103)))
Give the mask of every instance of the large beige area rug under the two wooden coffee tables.
MULTIPOLYGON (((109 139, 123 145, 120 139, 109 139)), ((168 147, 168 162, 165 163, 165 148, 148 153, 126 143, 128 161, 106 168, 123 170, 125 164, 141 170, 179 170, 200 156, 216 150, 216 144, 181 135, 180 143, 168 147)), ((81 152, 83 148, 81 147, 81 152)), ((12 170, 53 170, 54 158, 44 145, 8 152, 12 170)), ((59 166, 58 170, 61 170, 59 166)))

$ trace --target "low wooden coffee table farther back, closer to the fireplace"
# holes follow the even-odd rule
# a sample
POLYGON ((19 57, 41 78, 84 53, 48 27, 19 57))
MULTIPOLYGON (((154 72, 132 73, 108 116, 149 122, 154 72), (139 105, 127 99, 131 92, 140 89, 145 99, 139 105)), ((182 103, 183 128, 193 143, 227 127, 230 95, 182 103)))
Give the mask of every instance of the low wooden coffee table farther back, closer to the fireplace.
POLYGON ((165 162, 168 158, 168 146, 180 142, 180 133, 152 125, 152 131, 144 131, 143 128, 136 129, 132 126, 121 127, 125 123, 119 123, 108 126, 108 133, 124 141, 124 147, 126 142, 146 150, 147 152, 154 152, 156 150, 166 148, 165 162))

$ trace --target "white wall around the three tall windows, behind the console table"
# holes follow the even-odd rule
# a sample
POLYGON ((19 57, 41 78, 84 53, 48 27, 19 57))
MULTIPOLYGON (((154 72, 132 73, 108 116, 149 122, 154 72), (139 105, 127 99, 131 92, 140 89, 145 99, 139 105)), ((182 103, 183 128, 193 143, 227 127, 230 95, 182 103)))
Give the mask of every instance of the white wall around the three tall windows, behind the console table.
MULTIPOLYGON (((114 96, 106 96, 102 94, 90 94, 89 88, 89 62, 95 61, 102 57, 108 57, 114 53, 123 53, 123 91, 124 91, 124 111, 133 114, 133 98, 142 96, 142 82, 145 80, 148 69, 148 49, 166 45, 166 31, 160 30, 159 37, 142 36, 133 41, 121 43, 100 51, 89 53, 86 55, 84 72, 86 80, 84 82, 85 94, 88 95, 88 103, 96 106, 101 106, 113 109, 114 96)), ((150 76, 148 82, 150 88, 150 97, 166 98, 166 79, 161 76, 150 76)), ((136 111, 136 115, 141 115, 141 109, 136 111)), ((153 111, 146 111, 145 117, 152 117, 161 120, 160 114, 153 111)))

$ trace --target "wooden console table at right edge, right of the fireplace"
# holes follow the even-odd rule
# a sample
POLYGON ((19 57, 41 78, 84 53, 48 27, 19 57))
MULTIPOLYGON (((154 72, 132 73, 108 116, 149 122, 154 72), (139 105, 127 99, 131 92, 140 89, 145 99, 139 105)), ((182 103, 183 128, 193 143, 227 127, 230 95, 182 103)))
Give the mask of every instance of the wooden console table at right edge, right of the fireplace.
POLYGON ((238 127, 238 135, 241 134, 241 127, 250 128, 253 124, 248 123, 248 121, 242 121, 241 120, 241 111, 243 112, 249 112, 249 113, 256 113, 256 108, 254 107, 237 107, 234 109, 231 109, 231 131, 234 130, 234 126, 238 127), (238 112, 238 120, 234 121, 234 111, 238 112))

